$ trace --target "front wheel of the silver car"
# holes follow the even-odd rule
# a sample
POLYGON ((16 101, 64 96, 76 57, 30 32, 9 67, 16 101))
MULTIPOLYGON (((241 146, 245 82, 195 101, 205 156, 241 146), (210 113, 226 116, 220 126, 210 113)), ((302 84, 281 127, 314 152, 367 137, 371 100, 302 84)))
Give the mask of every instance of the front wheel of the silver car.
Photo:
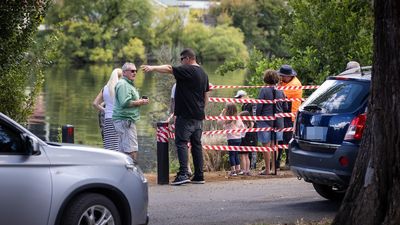
POLYGON ((101 194, 79 195, 68 205, 62 217, 62 225, 121 225, 115 204, 101 194))

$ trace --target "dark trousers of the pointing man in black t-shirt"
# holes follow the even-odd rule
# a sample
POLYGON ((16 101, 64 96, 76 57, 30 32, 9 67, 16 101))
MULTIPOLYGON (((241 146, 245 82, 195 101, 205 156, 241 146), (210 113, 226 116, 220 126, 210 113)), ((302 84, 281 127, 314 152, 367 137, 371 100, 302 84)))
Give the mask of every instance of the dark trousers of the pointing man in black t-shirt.
POLYGON ((194 175, 203 177, 203 147, 201 146, 201 135, 203 132, 203 121, 196 119, 185 119, 177 117, 175 121, 175 145, 178 152, 179 174, 188 174, 188 146, 192 145, 192 157, 194 175))

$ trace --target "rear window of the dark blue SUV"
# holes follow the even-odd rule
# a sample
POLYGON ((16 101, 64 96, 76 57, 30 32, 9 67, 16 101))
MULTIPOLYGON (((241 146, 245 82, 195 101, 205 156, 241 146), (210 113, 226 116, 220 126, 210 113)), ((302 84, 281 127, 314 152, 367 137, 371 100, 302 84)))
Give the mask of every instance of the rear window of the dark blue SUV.
POLYGON ((321 113, 350 113, 363 104, 368 93, 368 82, 327 80, 311 94, 302 108, 313 106, 321 113))

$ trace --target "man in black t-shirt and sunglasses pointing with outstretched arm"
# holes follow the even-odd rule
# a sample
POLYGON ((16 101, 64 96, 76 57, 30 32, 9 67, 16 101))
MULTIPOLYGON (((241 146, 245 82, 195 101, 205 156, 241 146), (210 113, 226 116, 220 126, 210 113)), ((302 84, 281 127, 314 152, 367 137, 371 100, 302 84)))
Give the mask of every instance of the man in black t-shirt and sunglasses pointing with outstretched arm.
POLYGON ((201 135, 203 132, 204 108, 208 100, 208 75, 197 64, 196 55, 192 49, 184 49, 181 54, 180 66, 142 65, 144 72, 159 72, 172 74, 176 79, 175 90, 175 144, 178 151, 179 172, 172 185, 185 183, 204 184, 203 147, 201 135), (194 177, 188 176, 188 146, 192 145, 194 177))

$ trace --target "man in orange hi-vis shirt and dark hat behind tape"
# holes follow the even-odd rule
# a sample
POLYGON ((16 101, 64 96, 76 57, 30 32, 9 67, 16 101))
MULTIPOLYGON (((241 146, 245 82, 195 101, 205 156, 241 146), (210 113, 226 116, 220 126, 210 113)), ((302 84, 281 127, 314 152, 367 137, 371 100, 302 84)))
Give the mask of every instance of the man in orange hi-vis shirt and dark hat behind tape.
MULTIPOLYGON (((281 77, 281 86, 299 86, 301 87, 301 82, 299 79, 297 79, 296 71, 293 70, 293 68, 290 65, 282 65, 281 68, 277 71, 279 76, 281 77)), ((298 89, 298 90, 283 90, 283 92, 286 95, 286 98, 302 98, 303 96, 303 90, 298 89)), ((291 105, 291 113, 296 114, 297 110, 299 109, 301 105, 301 101, 292 101, 289 102, 289 106, 291 105)), ((294 122, 295 116, 292 118, 285 118, 284 123, 285 127, 293 127, 293 122, 294 122)), ((283 142, 282 144, 288 144, 290 139, 292 138, 293 132, 284 132, 283 133, 283 142)), ((286 163, 285 167, 288 167, 289 164, 289 155, 288 155, 288 150, 285 149, 286 152, 286 163)), ((278 158, 276 161, 277 168, 280 167, 280 162, 282 159, 282 149, 279 149, 278 152, 278 158)))

